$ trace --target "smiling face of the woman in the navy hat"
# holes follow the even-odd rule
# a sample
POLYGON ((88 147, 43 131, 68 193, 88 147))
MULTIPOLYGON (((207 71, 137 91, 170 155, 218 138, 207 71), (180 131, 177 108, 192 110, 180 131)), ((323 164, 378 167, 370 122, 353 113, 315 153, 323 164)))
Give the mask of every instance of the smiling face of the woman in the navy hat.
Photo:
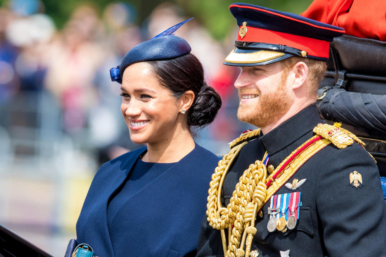
POLYGON ((173 138, 181 101, 154 77, 146 62, 128 66, 122 79, 121 112, 137 144, 157 144, 173 138))

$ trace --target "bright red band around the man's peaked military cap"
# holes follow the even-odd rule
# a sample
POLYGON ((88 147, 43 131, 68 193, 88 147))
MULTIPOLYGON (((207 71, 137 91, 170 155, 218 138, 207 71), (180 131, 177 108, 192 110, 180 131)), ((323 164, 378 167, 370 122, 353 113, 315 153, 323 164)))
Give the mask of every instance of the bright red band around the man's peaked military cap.
POLYGON ((248 26, 246 27, 247 34, 245 34, 242 39, 240 35, 238 35, 238 41, 287 45, 299 50, 304 50, 308 53, 308 55, 328 58, 330 48, 330 42, 328 41, 312 39, 309 37, 287 34, 273 30, 259 29, 248 26))

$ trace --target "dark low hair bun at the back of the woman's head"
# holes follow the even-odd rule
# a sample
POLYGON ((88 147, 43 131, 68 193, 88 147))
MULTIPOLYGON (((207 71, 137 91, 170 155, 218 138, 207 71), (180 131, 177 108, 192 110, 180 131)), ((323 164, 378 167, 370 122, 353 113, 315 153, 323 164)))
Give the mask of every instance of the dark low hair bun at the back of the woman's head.
POLYGON ((209 125, 221 107, 221 97, 205 82, 198 92, 195 102, 191 106, 188 114, 188 125, 200 126, 201 128, 209 125))

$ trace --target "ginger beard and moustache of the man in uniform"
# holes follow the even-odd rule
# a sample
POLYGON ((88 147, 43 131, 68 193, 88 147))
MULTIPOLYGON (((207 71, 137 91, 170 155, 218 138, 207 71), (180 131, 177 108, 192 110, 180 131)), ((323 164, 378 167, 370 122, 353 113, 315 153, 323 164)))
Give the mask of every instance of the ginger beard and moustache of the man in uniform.
POLYGON ((291 107, 292 98, 285 91, 285 79, 281 79, 276 91, 261 94, 259 89, 239 89, 242 94, 257 94, 257 104, 242 103, 237 109, 237 118, 259 128, 264 128, 283 116, 291 107))

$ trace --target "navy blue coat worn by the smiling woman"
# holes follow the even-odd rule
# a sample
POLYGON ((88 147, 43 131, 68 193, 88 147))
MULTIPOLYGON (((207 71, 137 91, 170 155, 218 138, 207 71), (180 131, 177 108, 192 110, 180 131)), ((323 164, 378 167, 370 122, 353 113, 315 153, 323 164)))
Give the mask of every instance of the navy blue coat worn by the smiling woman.
POLYGON ((195 254, 210 177, 218 157, 196 144, 178 163, 130 195, 107 224, 111 195, 130 176, 142 147, 102 165, 83 204, 76 233, 98 257, 195 254))

